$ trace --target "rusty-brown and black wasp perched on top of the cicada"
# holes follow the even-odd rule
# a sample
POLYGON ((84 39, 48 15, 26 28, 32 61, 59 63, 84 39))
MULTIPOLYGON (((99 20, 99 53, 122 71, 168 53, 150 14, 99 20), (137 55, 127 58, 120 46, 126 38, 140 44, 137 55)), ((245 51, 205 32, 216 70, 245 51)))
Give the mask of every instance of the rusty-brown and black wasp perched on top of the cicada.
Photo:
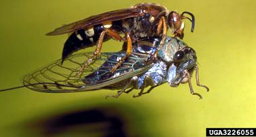
POLYGON ((111 38, 117 41, 127 41, 128 48, 126 49, 126 56, 119 61, 120 63, 117 66, 112 68, 111 72, 113 73, 124 62, 125 58, 132 54, 132 43, 141 38, 162 36, 159 46, 161 47, 169 26, 175 37, 183 39, 183 19, 189 19, 192 22, 191 32, 193 32, 195 18, 190 12, 178 14, 175 11, 168 12, 166 7, 156 3, 139 3, 130 8, 90 16, 84 20, 56 28, 46 35, 72 33, 64 44, 62 62, 73 52, 96 45, 94 54, 84 62, 84 65, 78 71, 79 73, 92 62, 92 58, 98 58, 100 56, 104 41, 111 38), (185 16, 185 14, 188 14, 191 18, 185 16), (124 35, 124 37, 121 35, 124 35))

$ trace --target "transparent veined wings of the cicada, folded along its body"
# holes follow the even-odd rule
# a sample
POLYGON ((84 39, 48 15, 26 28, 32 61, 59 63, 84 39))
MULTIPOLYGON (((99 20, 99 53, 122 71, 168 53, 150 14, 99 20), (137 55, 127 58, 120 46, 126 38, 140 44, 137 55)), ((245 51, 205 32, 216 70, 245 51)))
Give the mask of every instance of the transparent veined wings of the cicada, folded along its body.
POLYGON ((76 77, 81 65, 91 56, 92 53, 74 54, 63 64, 62 60, 56 60, 26 75, 23 83, 29 89, 38 92, 81 92, 124 81, 144 73, 151 67, 151 64, 145 63, 146 54, 134 53, 111 74, 111 68, 117 60, 125 56, 125 53, 102 53, 100 58, 94 59, 84 72, 76 77))

